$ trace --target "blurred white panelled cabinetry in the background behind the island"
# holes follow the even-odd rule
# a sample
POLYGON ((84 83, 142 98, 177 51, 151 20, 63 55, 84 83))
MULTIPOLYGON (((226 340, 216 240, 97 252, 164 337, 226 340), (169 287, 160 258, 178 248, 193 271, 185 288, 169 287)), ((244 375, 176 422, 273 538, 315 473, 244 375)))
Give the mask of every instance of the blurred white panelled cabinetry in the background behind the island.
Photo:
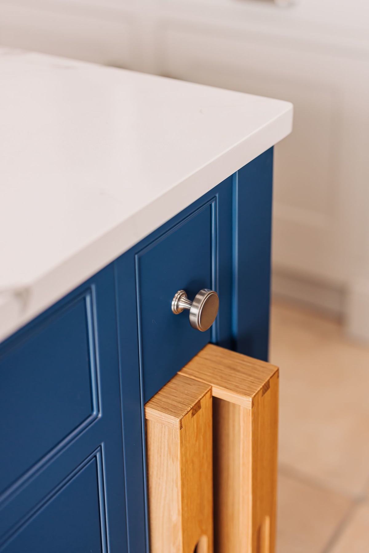
POLYGON ((369 340, 367 0, 0 0, 0 41, 292 101, 274 288, 369 340))

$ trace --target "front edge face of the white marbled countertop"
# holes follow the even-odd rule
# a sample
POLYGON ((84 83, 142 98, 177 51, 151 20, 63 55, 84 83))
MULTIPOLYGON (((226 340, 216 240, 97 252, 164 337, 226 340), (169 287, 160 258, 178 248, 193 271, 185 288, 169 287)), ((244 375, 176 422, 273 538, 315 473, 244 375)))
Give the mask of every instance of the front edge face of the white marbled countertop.
POLYGON ((0 342, 292 131, 293 106, 38 280, 0 293, 0 342), (168 208, 168 205, 170 208, 168 208), (127 227, 127 228, 126 228, 127 227), (132 232, 140 229, 140 232, 132 232))

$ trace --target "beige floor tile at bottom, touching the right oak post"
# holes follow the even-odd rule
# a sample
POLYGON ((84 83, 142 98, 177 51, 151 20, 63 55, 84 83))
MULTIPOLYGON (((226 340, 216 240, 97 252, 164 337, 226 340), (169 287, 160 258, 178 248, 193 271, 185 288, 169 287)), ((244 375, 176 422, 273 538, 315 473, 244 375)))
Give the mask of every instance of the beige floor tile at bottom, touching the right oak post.
POLYGON ((350 507, 335 492, 280 475, 277 553, 321 553, 350 507))

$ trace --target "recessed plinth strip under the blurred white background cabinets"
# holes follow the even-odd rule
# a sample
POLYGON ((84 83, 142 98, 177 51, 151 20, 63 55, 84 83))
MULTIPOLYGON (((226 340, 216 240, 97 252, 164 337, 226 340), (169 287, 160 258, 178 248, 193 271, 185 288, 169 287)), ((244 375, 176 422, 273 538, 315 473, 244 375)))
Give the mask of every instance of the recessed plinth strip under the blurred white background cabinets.
POLYGON ((343 286, 274 269, 272 295, 275 299, 297 302, 337 319, 345 317, 346 294, 343 286))

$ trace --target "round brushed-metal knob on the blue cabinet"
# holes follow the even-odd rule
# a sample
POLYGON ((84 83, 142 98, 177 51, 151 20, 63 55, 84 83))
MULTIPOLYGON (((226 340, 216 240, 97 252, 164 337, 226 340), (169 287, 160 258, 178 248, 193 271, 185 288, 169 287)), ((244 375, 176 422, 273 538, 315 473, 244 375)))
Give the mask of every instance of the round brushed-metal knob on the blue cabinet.
POLYGON ((174 315, 179 315, 184 309, 190 311, 190 325, 196 330, 205 332, 211 327, 218 314, 219 298, 214 290, 202 288, 190 301, 184 290, 178 290, 171 302, 174 315))

